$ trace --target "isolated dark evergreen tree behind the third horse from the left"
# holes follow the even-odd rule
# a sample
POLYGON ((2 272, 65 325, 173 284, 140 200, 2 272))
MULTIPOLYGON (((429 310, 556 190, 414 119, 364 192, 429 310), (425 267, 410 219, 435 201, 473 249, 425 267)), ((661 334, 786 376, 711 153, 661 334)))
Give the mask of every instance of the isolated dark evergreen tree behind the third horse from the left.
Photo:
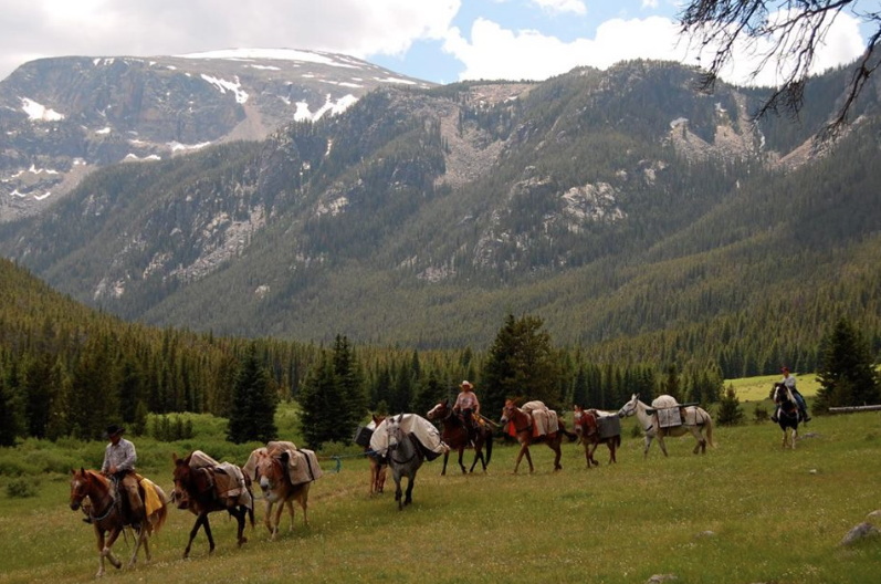
POLYGON ((239 367, 232 385, 227 439, 241 444, 250 440, 266 442, 275 439, 276 396, 270 387, 270 376, 258 359, 256 344, 252 343, 239 367))

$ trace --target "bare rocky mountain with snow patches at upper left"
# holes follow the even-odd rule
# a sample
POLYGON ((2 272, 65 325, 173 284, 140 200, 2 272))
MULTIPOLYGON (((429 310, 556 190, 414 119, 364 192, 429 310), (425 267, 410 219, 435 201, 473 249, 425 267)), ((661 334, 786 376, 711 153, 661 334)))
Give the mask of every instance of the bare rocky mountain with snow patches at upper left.
POLYGON ((0 221, 40 212, 95 168, 263 139, 388 85, 428 86, 349 56, 295 50, 27 63, 0 82, 0 221))

